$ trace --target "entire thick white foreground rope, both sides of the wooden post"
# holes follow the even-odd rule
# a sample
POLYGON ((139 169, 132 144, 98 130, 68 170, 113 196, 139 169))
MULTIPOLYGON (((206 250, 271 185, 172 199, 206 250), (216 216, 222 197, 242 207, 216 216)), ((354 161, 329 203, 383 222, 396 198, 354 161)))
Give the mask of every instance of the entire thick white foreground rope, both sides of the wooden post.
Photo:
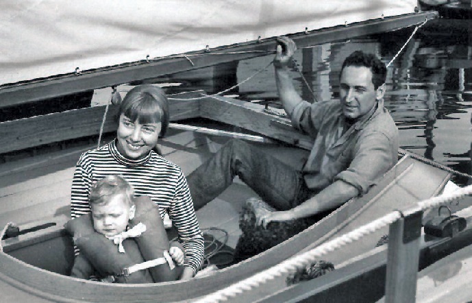
MULTIPOLYGON (((434 208, 441 205, 449 204, 450 202, 456 199, 461 199, 462 197, 471 194, 472 185, 458 189, 454 193, 448 195, 440 195, 438 197, 432 197, 430 199, 418 202, 417 207, 419 207, 421 210, 427 210, 428 208, 434 208)), ((417 208, 411 209, 417 210, 417 208)), ((337 250, 340 247, 352 243, 353 241, 358 241, 362 237, 365 237, 368 234, 379 230, 380 228, 388 226, 389 224, 397 221, 401 217, 401 215, 402 214, 399 210, 395 210, 379 219, 367 223, 364 226, 360 226, 356 230, 348 232, 347 234, 344 234, 341 237, 337 237, 332 241, 323 243, 318 247, 315 247, 313 250, 304 252, 299 256, 295 256, 293 258, 285 260, 282 263, 275 265, 274 267, 260 272, 259 274, 251 276, 240 282, 236 282, 235 284, 232 284, 231 286, 226 287, 225 289, 221 289, 219 291, 216 291, 215 293, 207 295, 206 297, 197 300, 197 302, 203 303, 225 301, 240 293, 243 293, 244 291, 249 291, 254 287, 258 287, 260 284, 263 284, 269 280, 273 280, 276 277, 280 277, 285 274, 293 274, 295 271, 297 271, 297 269, 302 269, 303 267, 310 265, 319 257, 329 252, 333 252, 334 250, 337 250)))

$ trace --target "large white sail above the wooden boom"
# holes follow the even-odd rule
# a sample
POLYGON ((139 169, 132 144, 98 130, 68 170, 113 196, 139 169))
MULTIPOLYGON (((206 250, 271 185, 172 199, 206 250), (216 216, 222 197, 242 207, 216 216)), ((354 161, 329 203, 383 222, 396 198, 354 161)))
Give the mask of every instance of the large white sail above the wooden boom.
POLYGON ((414 12, 414 0, 0 3, 0 85, 414 12))

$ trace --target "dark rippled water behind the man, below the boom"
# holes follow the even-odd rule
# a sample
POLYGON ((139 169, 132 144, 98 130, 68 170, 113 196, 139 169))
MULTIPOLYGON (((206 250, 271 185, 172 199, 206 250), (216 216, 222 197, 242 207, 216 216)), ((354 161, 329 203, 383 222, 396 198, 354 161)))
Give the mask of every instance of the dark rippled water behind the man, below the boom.
MULTIPOLYGON (((400 134, 400 146, 462 173, 472 174, 472 27, 470 21, 430 21, 388 67, 385 105, 400 134)), ((406 43, 414 27, 326 43, 297 50, 295 59, 314 95, 295 69, 295 86, 304 99, 336 99, 340 66, 352 51, 376 53, 386 64, 406 43)), ((175 75, 181 86, 169 93, 205 89, 219 92, 250 77, 273 60, 273 55, 242 60, 192 74, 175 75), (236 77, 234 76, 236 69, 236 77), (233 73, 231 73, 233 71, 233 73)), ((231 93, 238 99, 279 106, 273 67, 231 93)), ((467 178, 455 178, 467 184, 467 178)))

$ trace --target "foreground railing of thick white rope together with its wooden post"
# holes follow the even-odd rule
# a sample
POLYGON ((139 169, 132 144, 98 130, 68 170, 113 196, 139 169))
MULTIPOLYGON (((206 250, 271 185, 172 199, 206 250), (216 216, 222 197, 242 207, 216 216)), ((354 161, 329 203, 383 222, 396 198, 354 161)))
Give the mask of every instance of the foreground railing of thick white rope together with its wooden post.
POLYGON ((308 252, 289 258, 259 274, 200 298, 197 302, 223 302, 229 300, 269 280, 293 274, 297 269, 302 269, 319 260, 321 256, 337 250, 348 243, 358 241, 362 237, 388 225, 390 228, 388 233, 385 302, 415 302, 423 212, 430 208, 450 204, 471 194, 472 185, 460 188, 454 191, 454 193, 438 195, 437 197, 423 200, 418 202, 414 208, 394 210, 379 219, 360 226, 356 230, 337 237, 332 241, 323 243, 308 252))

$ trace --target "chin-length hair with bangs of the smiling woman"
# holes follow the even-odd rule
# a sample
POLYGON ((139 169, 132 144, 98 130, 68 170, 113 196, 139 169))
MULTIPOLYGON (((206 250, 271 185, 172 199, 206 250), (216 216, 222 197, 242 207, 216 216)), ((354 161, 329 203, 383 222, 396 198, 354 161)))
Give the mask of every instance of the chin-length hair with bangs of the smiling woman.
POLYGON ((164 90, 151 84, 132 88, 120 104, 119 116, 125 114, 132 121, 141 124, 162 123, 159 137, 162 138, 169 127, 169 101, 164 90))

